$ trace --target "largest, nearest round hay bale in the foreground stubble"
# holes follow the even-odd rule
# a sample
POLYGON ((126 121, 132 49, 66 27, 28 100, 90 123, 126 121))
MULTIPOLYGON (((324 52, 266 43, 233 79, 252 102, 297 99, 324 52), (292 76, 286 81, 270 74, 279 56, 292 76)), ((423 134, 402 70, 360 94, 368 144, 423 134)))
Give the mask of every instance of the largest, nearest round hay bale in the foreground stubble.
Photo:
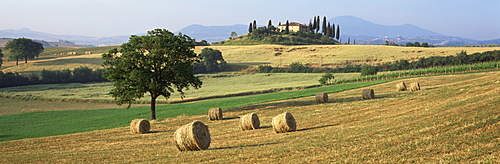
POLYGON ((210 131, 203 122, 193 121, 175 131, 174 142, 180 151, 206 150, 210 147, 210 131))

